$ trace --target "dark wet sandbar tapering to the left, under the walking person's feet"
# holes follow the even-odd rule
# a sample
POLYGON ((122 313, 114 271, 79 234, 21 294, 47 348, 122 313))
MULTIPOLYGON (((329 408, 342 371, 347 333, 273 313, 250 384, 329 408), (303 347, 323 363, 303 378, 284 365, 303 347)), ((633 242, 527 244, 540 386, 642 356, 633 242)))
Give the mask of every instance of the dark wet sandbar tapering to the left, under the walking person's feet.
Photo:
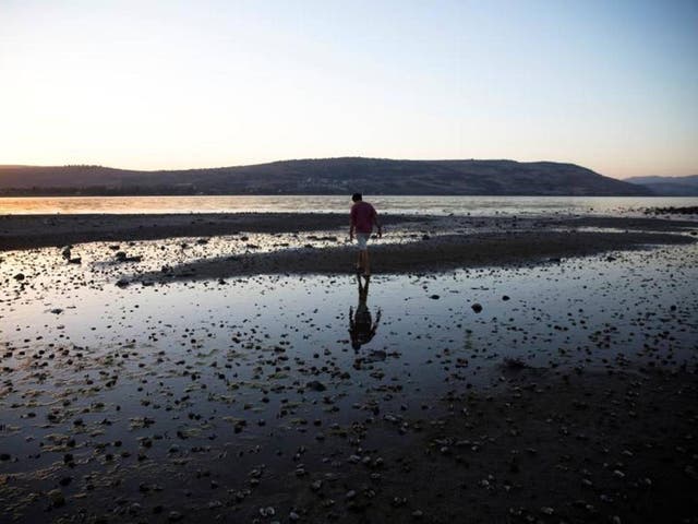
MULTIPOLYGON (((491 233, 446 235, 407 243, 380 243, 376 238, 370 254, 373 273, 437 273, 458 267, 557 263, 561 258, 693 242, 695 240, 686 236, 655 233, 491 233)), ((337 274, 341 270, 351 273, 354 259, 353 247, 308 247, 167 266, 159 272, 139 273, 131 276, 129 282, 228 278, 258 274, 337 274)))

